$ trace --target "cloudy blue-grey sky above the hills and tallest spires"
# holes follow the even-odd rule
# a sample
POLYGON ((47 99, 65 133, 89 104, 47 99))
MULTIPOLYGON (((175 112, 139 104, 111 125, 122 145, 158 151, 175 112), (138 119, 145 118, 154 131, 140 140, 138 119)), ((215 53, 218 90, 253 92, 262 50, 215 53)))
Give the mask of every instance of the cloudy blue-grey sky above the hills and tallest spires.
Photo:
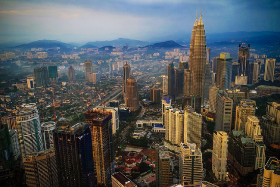
POLYGON ((277 0, 0 0, 0 44, 178 39, 201 7, 206 34, 280 32, 277 0))

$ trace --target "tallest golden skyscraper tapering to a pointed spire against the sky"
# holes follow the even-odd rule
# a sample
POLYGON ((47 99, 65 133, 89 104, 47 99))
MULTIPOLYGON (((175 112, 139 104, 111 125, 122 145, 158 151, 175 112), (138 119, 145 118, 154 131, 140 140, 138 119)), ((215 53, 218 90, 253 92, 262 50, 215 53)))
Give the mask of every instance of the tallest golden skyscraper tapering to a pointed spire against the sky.
POLYGON ((204 102, 204 70, 206 60, 205 30, 200 14, 200 19, 194 22, 189 46, 189 67, 191 71, 191 94, 201 96, 204 102))

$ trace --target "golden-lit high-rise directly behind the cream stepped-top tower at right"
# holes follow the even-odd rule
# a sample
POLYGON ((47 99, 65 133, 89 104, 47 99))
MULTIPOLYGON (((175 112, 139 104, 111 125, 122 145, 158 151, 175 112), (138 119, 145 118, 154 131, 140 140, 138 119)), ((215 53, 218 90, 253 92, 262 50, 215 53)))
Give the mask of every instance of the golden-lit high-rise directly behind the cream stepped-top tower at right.
POLYGON ((240 104, 236 106, 235 115, 235 130, 245 132, 245 125, 248 116, 255 116, 256 101, 241 100, 240 104))

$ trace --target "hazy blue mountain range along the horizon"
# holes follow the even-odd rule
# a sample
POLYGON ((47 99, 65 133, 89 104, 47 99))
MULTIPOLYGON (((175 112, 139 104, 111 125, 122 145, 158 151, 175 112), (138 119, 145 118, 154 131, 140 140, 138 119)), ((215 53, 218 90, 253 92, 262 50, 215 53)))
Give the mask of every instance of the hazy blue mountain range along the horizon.
MULTIPOLYGON (((206 34, 206 42, 207 46, 213 45, 235 45, 235 43, 246 42, 255 45, 263 45, 263 44, 272 44, 280 42, 280 32, 232 32, 232 33, 216 33, 216 34, 206 34)), ((57 49, 60 47, 62 50, 71 50, 74 47, 78 48, 99 48, 101 51, 104 50, 102 47, 110 46, 110 50, 113 49, 111 47, 123 47, 123 46, 131 46, 131 47, 148 47, 148 48, 182 48, 185 46, 189 46, 190 37, 186 37, 185 40, 169 40, 165 42, 154 42, 149 43, 140 40, 131 40, 125 38, 119 38, 117 40, 111 41, 95 41, 88 42, 85 45, 78 46, 75 43, 64 43, 57 40, 38 40, 35 42, 21 44, 14 47, 12 49, 30 49, 30 48, 44 48, 44 49, 57 49)), ((4 46, 2 46, 4 48, 4 46)))

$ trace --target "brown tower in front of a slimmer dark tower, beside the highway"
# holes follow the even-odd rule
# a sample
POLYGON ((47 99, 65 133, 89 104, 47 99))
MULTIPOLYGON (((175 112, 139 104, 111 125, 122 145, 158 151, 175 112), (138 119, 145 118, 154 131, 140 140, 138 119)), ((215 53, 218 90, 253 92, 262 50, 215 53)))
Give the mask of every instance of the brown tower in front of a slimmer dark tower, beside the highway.
POLYGON ((126 80, 126 92, 125 92, 125 105, 131 111, 136 111, 139 108, 139 99, 138 99, 138 88, 137 80, 130 76, 126 80))

